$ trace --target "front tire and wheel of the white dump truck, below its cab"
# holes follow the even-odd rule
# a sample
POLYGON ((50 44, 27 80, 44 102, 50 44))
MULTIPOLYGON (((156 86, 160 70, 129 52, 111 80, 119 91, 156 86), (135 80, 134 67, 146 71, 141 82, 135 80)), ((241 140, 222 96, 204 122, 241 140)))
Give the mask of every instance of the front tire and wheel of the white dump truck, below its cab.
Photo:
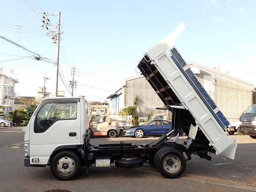
POLYGON ((62 151, 52 158, 50 167, 54 177, 67 181, 72 180, 80 172, 81 161, 74 152, 62 151))

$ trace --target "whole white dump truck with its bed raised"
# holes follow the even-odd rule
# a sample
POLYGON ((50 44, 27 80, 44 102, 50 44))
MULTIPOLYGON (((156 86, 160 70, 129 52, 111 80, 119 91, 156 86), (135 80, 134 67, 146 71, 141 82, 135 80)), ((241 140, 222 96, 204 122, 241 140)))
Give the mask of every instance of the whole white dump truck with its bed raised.
POLYGON ((211 160, 210 153, 234 159, 235 138, 228 138, 229 122, 214 104, 178 50, 173 46, 179 27, 148 49, 138 68, 156 94, 172 111, 172 132, 143 145, 131 143, 92 146, 89 136, 89 112, 83 97, 45 98, 36 108, 28 125, 23 127, 24 165, 50 166, 59 180, 71 180, 92 165, 135 168, 154 164, 166 178, 177 178, 192 154, 211 160), (188 140, 171 142, 180 129, 188 140), (186 156, 186 158, 185 158, 186 156))

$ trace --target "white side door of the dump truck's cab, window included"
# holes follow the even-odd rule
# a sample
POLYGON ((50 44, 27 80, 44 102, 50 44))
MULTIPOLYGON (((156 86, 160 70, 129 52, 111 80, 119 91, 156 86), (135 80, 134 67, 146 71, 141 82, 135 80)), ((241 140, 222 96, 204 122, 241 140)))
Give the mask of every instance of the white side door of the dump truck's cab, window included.
POLYGON ((52 151, 59 146, 81 144, 79 99, 45 100, 30 124, 30 163, 47 164, 52 151))

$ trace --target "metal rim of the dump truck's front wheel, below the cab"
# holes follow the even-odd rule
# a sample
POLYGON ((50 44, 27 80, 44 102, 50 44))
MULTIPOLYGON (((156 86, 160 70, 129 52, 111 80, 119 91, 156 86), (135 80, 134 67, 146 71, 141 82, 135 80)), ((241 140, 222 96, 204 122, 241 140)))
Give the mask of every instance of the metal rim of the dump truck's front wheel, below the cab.
POLYGON ((70 175, 74 172, 76 164, 72 158, 62 157, 58 160, 56 168, 61 175, 70 175))

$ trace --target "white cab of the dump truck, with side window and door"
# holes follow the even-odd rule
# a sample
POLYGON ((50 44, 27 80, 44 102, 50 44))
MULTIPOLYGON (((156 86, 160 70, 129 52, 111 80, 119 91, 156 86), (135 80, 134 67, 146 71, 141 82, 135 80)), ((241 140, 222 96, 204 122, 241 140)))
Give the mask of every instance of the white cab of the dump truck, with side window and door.
POLYGON ((28 125, 22 128, 25 132, 24 164, 45 166, 54 152, 82 145, 89 127, 88 120, 88 106, 83 97, 42 100, 28 125))

